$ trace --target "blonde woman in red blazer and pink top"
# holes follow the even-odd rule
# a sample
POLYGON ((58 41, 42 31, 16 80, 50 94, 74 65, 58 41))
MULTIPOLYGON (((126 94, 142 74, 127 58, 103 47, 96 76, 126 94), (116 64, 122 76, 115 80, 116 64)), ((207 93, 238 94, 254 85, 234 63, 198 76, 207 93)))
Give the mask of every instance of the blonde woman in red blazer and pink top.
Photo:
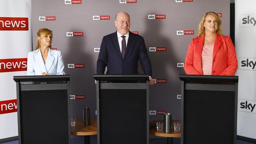
POLYGON ((234 76, 237 70, 235 47, 221 30, 221 19, 215 12, 205 13, 197 38, 189 44, 185 59, 186 74, 234 76))

